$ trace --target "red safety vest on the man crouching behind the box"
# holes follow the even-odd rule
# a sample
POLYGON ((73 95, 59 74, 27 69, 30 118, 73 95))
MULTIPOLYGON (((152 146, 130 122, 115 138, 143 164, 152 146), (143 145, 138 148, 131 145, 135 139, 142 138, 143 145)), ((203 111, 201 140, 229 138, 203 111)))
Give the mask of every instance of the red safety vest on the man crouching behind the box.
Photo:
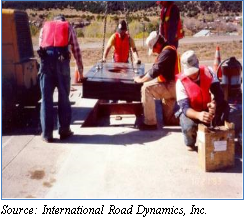
POLYGON ((179 79, 185 87, 191 108, 198 112, 207 110, 207 104, 211 101, 209 89, 213 79, 209 69, 200 66, 200 86, 184 74, 181 74, 179 79))

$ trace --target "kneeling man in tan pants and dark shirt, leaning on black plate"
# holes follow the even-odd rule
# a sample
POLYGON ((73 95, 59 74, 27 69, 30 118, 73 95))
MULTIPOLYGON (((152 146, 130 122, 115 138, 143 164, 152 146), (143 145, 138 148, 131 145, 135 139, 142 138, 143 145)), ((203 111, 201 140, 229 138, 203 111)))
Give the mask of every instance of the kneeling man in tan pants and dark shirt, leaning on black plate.
POLYGON ((149 47, 149 55, 156 53, 158 56, 145 76, 134 79, 137 83, 144 83, 141 89, 144 123, 139 129, 155 130, 157 129, 155 99, 162 99, 168 106, 167 116, 164 117, 175 120, 173 109, 176 102, 175 74, 178 74, 178 56, 176 48, 169 46, 156 31, 150 33, 146 44, 149 47))

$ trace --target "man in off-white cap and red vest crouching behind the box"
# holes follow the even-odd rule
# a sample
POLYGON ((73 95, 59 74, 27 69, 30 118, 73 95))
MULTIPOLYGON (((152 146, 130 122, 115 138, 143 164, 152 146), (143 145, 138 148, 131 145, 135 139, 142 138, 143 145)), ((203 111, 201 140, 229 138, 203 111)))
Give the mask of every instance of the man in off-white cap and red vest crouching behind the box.
POLYGON ((194 51, 181 56, 183 73, 176 82, 180 125, 188 150, 195 150, 198 124, 222 125, 227 120, 229 105, 224 100, 220 83, 212 69, 199 66, 194 51))

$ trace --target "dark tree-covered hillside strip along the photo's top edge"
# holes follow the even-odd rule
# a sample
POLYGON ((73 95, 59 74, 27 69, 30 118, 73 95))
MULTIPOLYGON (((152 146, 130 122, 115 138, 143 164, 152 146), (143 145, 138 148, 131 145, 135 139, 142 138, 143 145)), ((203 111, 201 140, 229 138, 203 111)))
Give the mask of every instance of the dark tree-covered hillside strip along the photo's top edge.
MULTIPOLYGON (((108 12, 117 14, 124 11, 122 1, 108 1, 108 12)), ((242 1, 177 1, 180 11, 185 16, 196 16, 199 13, 240 13, 243 9, 242 1)), ((145 10, 154 12, 157 7, 155 1, 125 1, 125 6, 130 12, 145 10)), ((105 3, 99 1, 5 1, 3 8, 48 10, 50 8, 74 8, 78 11, 91 13, 104 13, 105 3)))

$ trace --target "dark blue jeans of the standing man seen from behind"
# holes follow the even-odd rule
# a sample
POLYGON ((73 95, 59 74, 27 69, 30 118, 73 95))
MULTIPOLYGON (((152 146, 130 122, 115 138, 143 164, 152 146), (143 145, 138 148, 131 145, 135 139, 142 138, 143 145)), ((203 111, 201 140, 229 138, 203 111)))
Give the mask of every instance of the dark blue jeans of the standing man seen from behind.
POLYGON ((58 59, 47 55, 41 59, 40 88, 42 94, 41 126, 44 138, 53 137, 54 111, 53 93, 58 89, 59 134, 69 131, 71 123, 70 94, 70 60, 58 59))

